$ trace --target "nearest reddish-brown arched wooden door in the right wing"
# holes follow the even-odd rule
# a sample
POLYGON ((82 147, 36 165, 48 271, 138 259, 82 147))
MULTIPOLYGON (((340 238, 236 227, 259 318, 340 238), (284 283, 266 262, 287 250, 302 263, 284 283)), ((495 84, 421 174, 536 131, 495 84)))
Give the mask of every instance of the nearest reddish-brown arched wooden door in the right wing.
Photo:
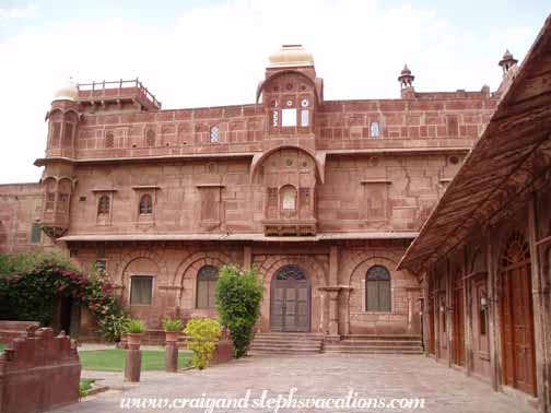
POLYGON ((530 250, 521 232, 508 237, 500 272, 503 381, 536 396, 530 250))

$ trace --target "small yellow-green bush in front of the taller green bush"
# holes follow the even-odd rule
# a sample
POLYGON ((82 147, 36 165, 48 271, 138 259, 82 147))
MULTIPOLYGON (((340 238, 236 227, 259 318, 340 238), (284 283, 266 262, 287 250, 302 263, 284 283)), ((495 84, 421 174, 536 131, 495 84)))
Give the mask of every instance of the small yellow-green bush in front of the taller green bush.
POLYGON ((184 334, 188 337, 187 347, 194 352, 191 364, 202 370, 212 359, 220 339, 220 322, 210 318, 194 318, 188 321, 184 334))

